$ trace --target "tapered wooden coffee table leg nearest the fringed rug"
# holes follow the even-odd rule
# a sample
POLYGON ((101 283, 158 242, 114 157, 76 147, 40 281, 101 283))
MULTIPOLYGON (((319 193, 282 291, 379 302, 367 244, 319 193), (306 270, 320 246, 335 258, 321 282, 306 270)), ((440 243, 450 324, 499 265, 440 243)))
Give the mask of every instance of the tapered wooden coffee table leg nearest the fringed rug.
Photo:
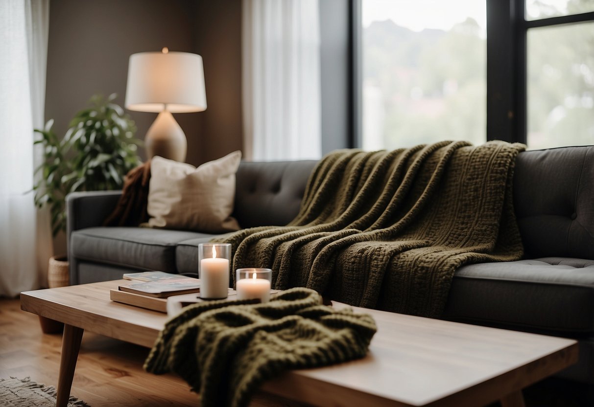
POLYGON ((56 407, 66 407, 68 405, 72 379, 74 379, 74 369, 78 358, 78 350, 80 349, 80 342, 83 339, 83 332, 84 329, 68 324, 64 325, 56 407))

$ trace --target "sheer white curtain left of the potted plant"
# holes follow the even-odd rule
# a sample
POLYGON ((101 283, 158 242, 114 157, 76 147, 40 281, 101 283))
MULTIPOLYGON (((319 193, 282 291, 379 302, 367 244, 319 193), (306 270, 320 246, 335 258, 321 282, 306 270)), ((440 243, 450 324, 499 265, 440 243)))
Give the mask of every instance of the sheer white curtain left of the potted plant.
POLYGON ((48 22, 48 0, 0 1, 0 295, 40 282, 30 191, 33 128, 43 126, 48 22))

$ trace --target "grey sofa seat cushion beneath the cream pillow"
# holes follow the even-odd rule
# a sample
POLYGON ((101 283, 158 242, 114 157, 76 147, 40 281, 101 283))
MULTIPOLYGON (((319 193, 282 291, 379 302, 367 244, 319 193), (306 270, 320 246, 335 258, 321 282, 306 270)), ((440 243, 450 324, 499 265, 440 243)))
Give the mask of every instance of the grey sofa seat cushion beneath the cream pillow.
POLYGON ((139 227, 92 227, 72 232, 77 259, 134 269, 176 273, 175 247, 180 241, 211 235, 139 227))

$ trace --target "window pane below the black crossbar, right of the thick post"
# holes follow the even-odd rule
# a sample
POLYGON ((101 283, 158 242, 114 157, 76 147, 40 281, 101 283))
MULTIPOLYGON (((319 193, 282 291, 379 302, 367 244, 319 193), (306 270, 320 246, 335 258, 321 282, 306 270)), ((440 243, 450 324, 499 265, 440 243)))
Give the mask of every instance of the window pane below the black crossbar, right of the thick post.
POLYGON ((594 144, 594 23, 528 30, 528 146, 594 144))

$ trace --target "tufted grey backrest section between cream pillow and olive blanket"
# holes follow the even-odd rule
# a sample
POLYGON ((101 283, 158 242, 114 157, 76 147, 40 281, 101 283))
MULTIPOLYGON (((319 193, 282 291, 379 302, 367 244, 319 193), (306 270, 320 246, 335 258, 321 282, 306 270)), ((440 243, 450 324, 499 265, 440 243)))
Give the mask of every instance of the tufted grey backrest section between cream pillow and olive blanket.
POLYGON ((317 163, 242 161, 236 176, 233 217, 242 228, 286 225, 299 213, 309 174, 317 163))

